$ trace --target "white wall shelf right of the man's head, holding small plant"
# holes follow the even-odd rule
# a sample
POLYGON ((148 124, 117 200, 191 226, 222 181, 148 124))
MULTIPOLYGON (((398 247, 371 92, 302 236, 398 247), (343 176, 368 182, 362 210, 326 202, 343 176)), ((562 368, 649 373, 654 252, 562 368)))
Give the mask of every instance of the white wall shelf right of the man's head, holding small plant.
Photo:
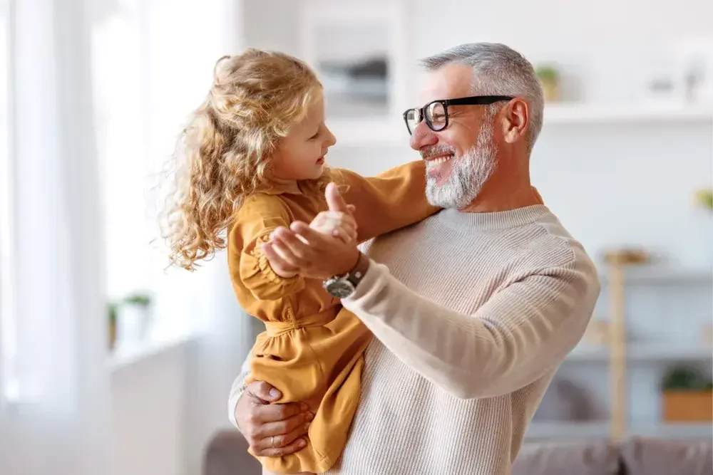
POLYGON ((607 122, 682 122, 713 120, 713 104, 588 104, 545 105, 545 124, 607 122))

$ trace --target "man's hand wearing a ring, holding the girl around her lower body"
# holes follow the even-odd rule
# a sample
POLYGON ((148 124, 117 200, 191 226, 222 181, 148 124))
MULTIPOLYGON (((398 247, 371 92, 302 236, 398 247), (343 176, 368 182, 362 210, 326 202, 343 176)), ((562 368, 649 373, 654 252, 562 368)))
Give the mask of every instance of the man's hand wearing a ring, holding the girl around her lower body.
POLYGON ((281 397, 264 381, 247 385, 235 407, 235 420, 256 456, 283 456, 303 449, 302 436, 314 415, 304 402, 270 404, 281 397))

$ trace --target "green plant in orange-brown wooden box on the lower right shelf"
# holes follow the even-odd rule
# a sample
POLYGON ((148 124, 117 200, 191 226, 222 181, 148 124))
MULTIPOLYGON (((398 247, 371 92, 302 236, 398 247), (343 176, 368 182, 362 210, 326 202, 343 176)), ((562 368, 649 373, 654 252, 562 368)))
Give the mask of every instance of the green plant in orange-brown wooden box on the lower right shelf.
POLYGON ((676 366, 662 380, 663 417, 667 422, 713 420, 713 381, 691 367, 676 366))

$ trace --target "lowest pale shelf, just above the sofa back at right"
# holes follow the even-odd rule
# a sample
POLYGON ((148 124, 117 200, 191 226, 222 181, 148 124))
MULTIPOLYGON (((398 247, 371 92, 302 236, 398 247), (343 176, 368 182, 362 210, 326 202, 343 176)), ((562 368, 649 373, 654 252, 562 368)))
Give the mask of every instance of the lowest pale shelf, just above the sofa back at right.
MULTIPOLYGON (((656 437, 657 439, 710 439, 713 424, 706 422, 674 424, 631 424, 630 436, 656 437)), ((530 423, 525 439, 607 439, 609 422, 536 422, 530 423)))

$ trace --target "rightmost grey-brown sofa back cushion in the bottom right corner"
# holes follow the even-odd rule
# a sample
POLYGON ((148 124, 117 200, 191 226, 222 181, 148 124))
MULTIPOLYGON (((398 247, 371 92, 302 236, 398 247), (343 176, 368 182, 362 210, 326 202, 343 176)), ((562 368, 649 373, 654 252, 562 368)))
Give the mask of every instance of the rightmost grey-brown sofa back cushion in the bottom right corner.
POLYGON ((713 442, 633 437, 620 451, 627 475, 713 475, 713 442))

